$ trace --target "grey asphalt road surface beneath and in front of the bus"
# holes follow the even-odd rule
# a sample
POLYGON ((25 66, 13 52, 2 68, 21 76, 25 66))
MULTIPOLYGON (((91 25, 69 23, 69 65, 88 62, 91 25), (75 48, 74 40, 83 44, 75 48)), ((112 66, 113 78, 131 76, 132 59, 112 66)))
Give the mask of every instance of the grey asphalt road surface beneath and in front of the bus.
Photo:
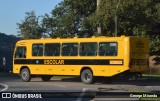
MULTIPOLYGON (((115 79, 111 84, 98 82, 87 85, 81 83, 79 78, 53 77, 51 81, 43 82, 41 78, 36 77, 30 82, 22 82, 18 77, 0 77, 0 92, 38 93, 42 94, 43 98, 52 98, 54 101, 114 101, 115 99, 135 101, 139 98, 132 97, 132 92, 160 92, 160 82, 148 79, 115 79)), ((46 99, 40 100, 46 101, 46 99)))

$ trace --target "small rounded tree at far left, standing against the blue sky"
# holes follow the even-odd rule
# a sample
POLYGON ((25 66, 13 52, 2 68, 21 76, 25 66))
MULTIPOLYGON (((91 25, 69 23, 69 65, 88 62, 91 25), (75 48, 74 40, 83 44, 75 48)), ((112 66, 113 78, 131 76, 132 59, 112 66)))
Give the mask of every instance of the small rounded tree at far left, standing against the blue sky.
POLYGON ((40 17, 37 17, 34 11, 26 12, 26 17, 21 23, 17 23, 20 35, 24 39, 41 38, 45 30, 39 22, 40 17))

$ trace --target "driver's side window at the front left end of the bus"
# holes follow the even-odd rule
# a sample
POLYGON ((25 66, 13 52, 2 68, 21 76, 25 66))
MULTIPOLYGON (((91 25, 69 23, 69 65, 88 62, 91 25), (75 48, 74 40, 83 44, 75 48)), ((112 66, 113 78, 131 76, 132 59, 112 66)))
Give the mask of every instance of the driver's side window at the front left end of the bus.
POLYGON ((15 58, 26 58, 26 47, 17 47, 15 58))

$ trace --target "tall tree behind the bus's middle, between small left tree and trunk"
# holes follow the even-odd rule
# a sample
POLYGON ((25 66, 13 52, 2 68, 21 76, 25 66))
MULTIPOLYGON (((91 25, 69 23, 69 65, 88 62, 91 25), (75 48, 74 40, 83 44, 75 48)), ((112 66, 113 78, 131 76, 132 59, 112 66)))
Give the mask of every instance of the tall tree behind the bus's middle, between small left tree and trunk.
POLYGON ((88 17, 96 10, 96 0, 65 0, 45 15, 44 28, 51 37, 73 37, 94 34, 88 17), (83 33, 83 34, 82 34, 83 33))

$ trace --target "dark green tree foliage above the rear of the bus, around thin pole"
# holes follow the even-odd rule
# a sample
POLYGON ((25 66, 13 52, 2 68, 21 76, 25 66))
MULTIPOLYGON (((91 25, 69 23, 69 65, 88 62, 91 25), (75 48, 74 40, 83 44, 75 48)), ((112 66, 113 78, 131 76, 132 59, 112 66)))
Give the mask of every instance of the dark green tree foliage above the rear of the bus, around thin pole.
POLYGON ((153 0, 102 0, 100 10, 90 16, 96 27, 101 23, 104 35, 114 36, 115 14, 118 16, 118 35, 145 35, 151 22, 159 20, 157 3, 153 0))

